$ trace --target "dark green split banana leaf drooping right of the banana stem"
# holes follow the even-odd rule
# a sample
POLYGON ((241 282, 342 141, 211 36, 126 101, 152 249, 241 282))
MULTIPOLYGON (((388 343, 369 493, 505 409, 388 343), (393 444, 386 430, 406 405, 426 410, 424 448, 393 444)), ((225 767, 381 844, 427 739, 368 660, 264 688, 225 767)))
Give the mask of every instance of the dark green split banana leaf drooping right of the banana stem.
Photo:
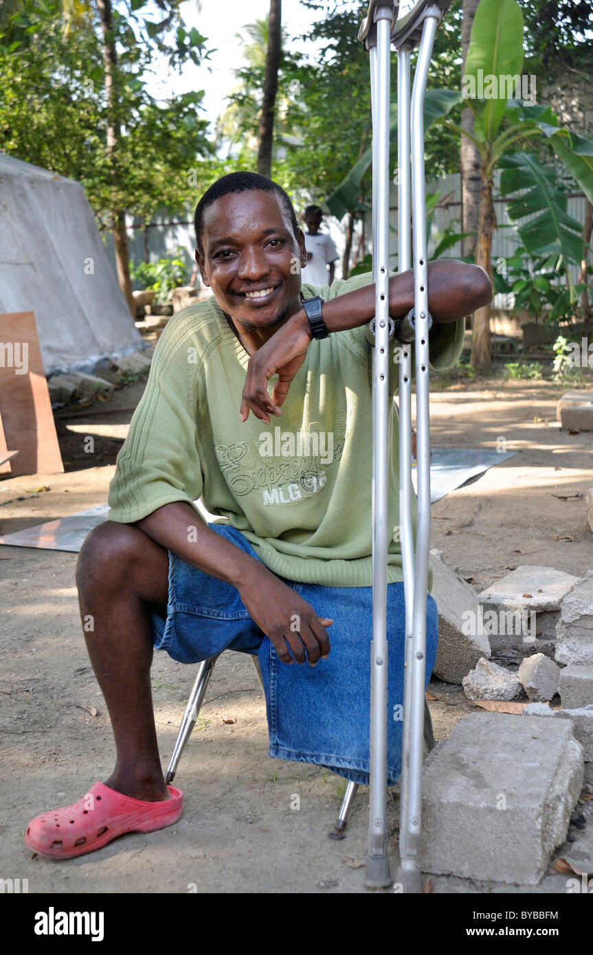
POLYGON ((566 193, 557 188, 556 173, 541 165, 533 153, 511 153, 499 160, 500 194, 509 198, 506 211, 531 255, 553 253, 580 263, 582 224, 566 212, 566 193), (515 198, 513 198, 513 196, 515 198))

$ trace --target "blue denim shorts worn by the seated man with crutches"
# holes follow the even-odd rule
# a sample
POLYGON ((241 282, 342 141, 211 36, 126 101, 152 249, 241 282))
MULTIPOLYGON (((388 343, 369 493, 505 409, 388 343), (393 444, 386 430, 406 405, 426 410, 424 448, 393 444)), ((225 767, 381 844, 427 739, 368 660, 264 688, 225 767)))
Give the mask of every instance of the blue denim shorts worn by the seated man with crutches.
MULTIPOLYGON (((259 560, 249 541, 228 524, 209 524, 259 560)), ((285 580, 284 578, 282 578, 285 580)), ((288 666, 251 620, 239 591, 169 553, 167 619, 153 615, 154 645, 180 663, 199 663, 224 649, 257 654, 265 689, 268 755, 327 767, 353 782, 369 783, 371 587, 327 587, 285 580, 328 627, 331 651, 317 667, 288 666)), ((388 783, 401 768, 405 603, 403 584, 388 584, 388 783)), ((426 686, 436 658, 438 615, 429 596, 426 686)))

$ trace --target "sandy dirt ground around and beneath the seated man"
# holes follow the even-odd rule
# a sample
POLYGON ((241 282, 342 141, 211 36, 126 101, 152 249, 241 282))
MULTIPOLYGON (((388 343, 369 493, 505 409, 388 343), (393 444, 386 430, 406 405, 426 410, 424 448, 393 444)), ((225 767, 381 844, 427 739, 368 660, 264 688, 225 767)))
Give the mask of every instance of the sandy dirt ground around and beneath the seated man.
MULTIPOLYGON (((131 417, 113 409, 135 405, 142 389, 138 382, 116 393, 104 414, 60 413, 67 473, 0 480, 0 534, 106 500, 131 417), (89 435, 95 438, 92 455, 84 450, 89 435)), ((548 384, 483 381, 433 394, 434 445, 492 448, 504 438, 505 450, 517 452, 433 507, 432 546, 462 577, 473 578, 477 590, 519 564, 578 576, 593 568, 582 499, 593 486, 593 434, 560 430, 556 400, 562 391, 548 384)), ((80 859, 32 858, 23 841, 30 818, 74 801, 112 769, 109 717, 77 614, 75 561, 70 553, 0 547, 0 646, 6 651, 0 677, 0 876, 28 879, 32 893, 363 892, 368 791, 361 788, 356 797, 347 838, 329 839, 345 780, 267 757, 263 694, 249 660, 234 653, 217 664, 180 763, 180 822, 149 836, 119 838, 80 859), (227 716, 236 722, 224 723, 227 716)), ((157 655, 153 688, 163 763, 194 677, 195 668, 157 655)), ((434 680, 431 690, 439 740, 477 708, 460 688, 434 680)), ((593 859, 593 808, 586 807, 593 803, 582 807, 588 824, 571 826, 574 841, 559 855, 579 849, 593 859)), ((390 817, 395 866, 396 791, 390 817)), ((444 877, 433 877, 432 885, 435 893, 564 893, 566 876, 548 875, 535 888, 444 877)))

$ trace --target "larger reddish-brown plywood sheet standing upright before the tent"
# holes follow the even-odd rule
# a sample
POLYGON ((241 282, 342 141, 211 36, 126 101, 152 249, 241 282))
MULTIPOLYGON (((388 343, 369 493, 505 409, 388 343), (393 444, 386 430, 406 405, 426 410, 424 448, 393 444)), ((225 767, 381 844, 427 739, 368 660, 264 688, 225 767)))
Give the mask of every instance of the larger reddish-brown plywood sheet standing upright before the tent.
POLYGON ((12 475, 63 472, 32 311, 0 315, 0 414, 12 475))

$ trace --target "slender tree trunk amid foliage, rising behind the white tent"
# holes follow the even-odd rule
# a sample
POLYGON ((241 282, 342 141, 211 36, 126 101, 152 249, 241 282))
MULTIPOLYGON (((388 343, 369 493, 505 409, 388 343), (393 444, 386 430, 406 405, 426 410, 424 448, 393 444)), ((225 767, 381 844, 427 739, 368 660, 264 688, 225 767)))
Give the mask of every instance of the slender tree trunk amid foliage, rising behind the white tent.
MULTIPOLYGON (((96 0, 96 6, 101 18, 101 32, 103 34, 103 68, 105 70, 105 98, 107 100, 107 160, 111 167, 111 177, 116 190, 116 150, 121 129, 117 117, 117 53, 114 37, 114 14, 111 0, 96 0)), ((118 203, 114 201, 114 204, 118 203)), ((116 251, 117 281, 126 297, 132 317, 136 318, 136 306, 132 294, 132 280, 130 279, 130 260, 128 255, 128 236, 125 227, 125 210, 112 209, 114 221, 114 248, 116 251)))

